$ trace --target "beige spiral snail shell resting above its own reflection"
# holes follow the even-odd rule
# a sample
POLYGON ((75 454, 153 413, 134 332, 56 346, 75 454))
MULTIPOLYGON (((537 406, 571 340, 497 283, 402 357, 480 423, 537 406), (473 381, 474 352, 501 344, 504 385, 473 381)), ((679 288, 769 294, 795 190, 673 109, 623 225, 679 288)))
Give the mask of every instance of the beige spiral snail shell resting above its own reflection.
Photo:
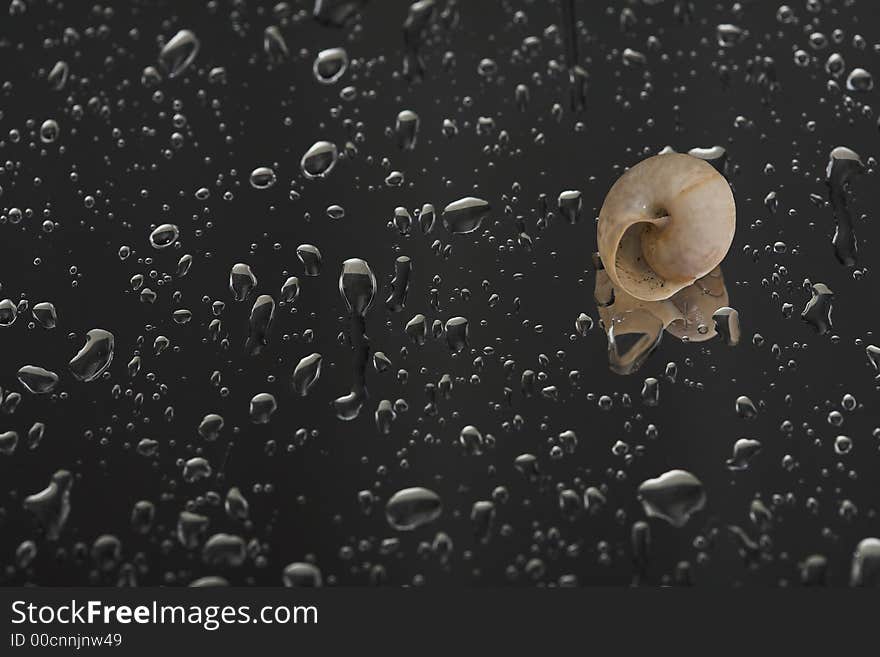
POLYGON ((733 193, 712 165, 682 153, 655 155, 605 197, 599 256, 616 290, 660 301, 717 267, 735 229, 733 193))

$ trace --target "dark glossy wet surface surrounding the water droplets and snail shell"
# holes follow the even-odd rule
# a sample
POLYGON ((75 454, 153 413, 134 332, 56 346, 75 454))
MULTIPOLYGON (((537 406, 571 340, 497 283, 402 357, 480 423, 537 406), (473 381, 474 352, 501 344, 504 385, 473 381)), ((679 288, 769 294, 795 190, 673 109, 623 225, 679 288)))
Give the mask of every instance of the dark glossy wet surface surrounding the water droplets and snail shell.
POLYGON ((88 549, 99 535, 112 534, 122 541, 120 562, 137 565, 141 584, 187 584, 219 574, 233 584, 276 585, 286 564, 310 558, 325 582, 346 585, 368 583, 375 564, 386 568, 393 584, 552 584, 574 574, 582 585, 626 585, 633 578, 630 527, 644 517, 636 487, 666 470, 684 468, 703 481, 706 509, 681 529, 650 521, 653 540, 645 581, 660 583, 678 562, 688 561, 698 584, 798 583, 798 563, 823 554, 829 560, 829 583, 846 584, 856 543, 878 533, 873 483, 878 441, 872 430, 880 418, 874 373, 864 351, 876 340, 871 334, 877 316, 871 271, 875 203, 869 190, 877 129, 869 109, 875 92, 853 93, 846 100, 846 92, 829 91, 823 64, 831 52, 840 52, 847 71, 876 67, 876 10, 868 2, 822 2, 813 13, 799 2, 792 5, 798 22, 782 24, 776 19, 776 3, 738 3, 736 10, 733 3, 697 2, 692 21, 682 24, 673 11, 675 3, 667 0, 656 6, 633 4, 637 22, 622 29, 620 14, 627 3, 578 2, 580 61, 589 87, 586 109, 574 112, 565 74, 549 71, 554 68, 551 60, 560 66, 563 62, 561 30, 546 31, 561 25, 558 3, 459 3, 453 10, 457 21, 450 25, 441 20, 445 5, 438 2, 437 21, 422 48, 426 73, 420 82, 400 73, 407 4, 370 2, 345 28, 318 25, 308 15, 311 4, 305 3, 290 3, 294 18, 287 21, 273 15, 271 3, 226 2, 33 2, 21 15, 0 18, 0 160, 5 165, 0 209, 4 217, 11 208, 33 212, 18 225, 0 224, 0 293, 16 301, 26 297, 32 304, 52 301, 59 313, 59 325, 52 331, 29 328, 28 317, 0 329, 0 386, 24 395, 14 414, 0 416, 0 429, 15 429, 23 437, 34 421, 47 425, 37 450, 20 444, 14 455, 0 457, 0 563, 9 564, 4 583, 113 584, 119 564, 98 573, 87 555, 76 556, 78 543, 88 549), (305 13, 298 15, 299 10, 305 13), (527 15, 525 24, 514 21, 518 10, 527 15), (716 26, 723 23, 736 24, 748 34, 737 45, 720 48, 716 26), (290 57, 270 65, 262 41, 264 28, 273 24, 281 26, 290 57), (79 32, 78 44, 62 42, 65 27, 79 32), (200 53, 184 76, 161 83, 163 98, 157 102, 156 90, 141 84, 141 72, 156 65, 164 42, 160 39, 183 28, 198 35, 200 53), (844 33, 840 44, 831 41, 836 28, 844 33), (813 31, 828 36, 826 48, 811 48, 813 31), (853 43, 857 34, 864 35, 864 48, 853 43), (659 39, 658 50, 647 46, 651 35, 659 39), (540 37, 540 50, 514 58, 513 51, 528 36, 540 37), (360 63, 335 85, 320 85, 311 72, 314 55, 336 46, 344 46, 360 63), (624 66, 621 52, 626 47, 645 53, 646 65, 624 66), (797 66, 796 48, 808 51, 814 61, 797 66), (442 66, 447 51, 455 55, 450 70, 442 66), (775 60, 775 91, 747 80, 748 62, 757 56, 775 60), (497 72, 488 78, 477 72, 483 58, 497 63, 497 72), (70 64, 71 79, 63 91, 53 92, 45 77, 59 59, 70 64), (726 84, 721 65, 730 71, 726 84), (209 83, 208 71, 214 66, 226 69, 226 84, 209 83), (646 81, 652 90, 640 98, 646 81), (524 112, 514 103, 514 88, 520 83, 531 90, 524 112), (349 84, 357 87, 358 98, 339 100, 339 90, 349 84), (187 119, 179 149, 171 145, 175 101, 187 119), (559 121, 551 112, 554 103, 564 109, 559 121), (84 108, 79 119, 75 105, 84 108), (340 108, 338 115, 334 108, 340 108), (411 152, 401 151, 386 134, 403 109, 421 119, 411 152), (482 116, 494 118, 494 135, 476 133, 482 116), (736 127, 738 116, 747 125, 736 127), (285 125, 286 117, 290 125, 285 125), (44 146, 37 131, 47 118, 59 122, 61 135, 44 146), (304 180, 299 159, 313 142, 327 139, 342 146, 352 138, 343 126, 345 118, 363 122, 365 139, 358 144, 358 156, 340 161, 326 180, 304 180), (456 137, 443 136, 444 118, 457 122, 456 137), (808 128, 810 121, 815 121, 814 130, 808 128), (577 122, 583 129, 575 129, 577 122), (20 140, 12 138, 12 130, 20 133, 20 140), (509 143, 493 152, 501 130, 508 132, 509 143), (538 133, 543 135, 540 143, 538 133), (117 143, 120 137, 122 145, 117 143), (606 341, 598 326, 586 337, 572 338, 579 313, 598 319, 590 260, 593 217, 624 167, 666 145, 679 151, 712 145, 728 149, 738 225, 723 271, 744 339, 731 349, 717 340, 693 346, 667 336, 640 372, 620 377, 608 370, 606 341), (853 148, 869 164, 869 175, 853 186, 856 216, 865 215, 856 223, 860 277, 834 257, 831 209, 809 198, 826 196, 825 166, 837 145, 853 148), (166 149, 173 152, 171 157, 166 149), (390 168, 382 166, 383 158, 390 168), (272 189, 249 186, 250 171, 258 166, 275 169, 278 182, 272 189), (402 188, 384 184, 391 169, 405 172, 402 188), (76 180, 71 172, 77 173, 76 180), (515 184, 519 191, 514 192, 515 184), (204 202, 194 196, 203 186, 211 190, 204 202), (291 188, 301 198, 291 200, 291 188), (539 195, 547 194, 552 205, 567 189, 583 193, 581 222, 568 225, 556 219, 540 230, 539 195), (762 202, 773 190, 780 199, 775 214, 762 202), (223 199, 226 191, 232 200, 223 199), (84 201, 89 195, 96 199, 93 208, 84 201), (403 238, 387 226, 396 206, 413 210, 430 202, 439 211, 467 195, 492 204, 492 221, 484 224, 488 234, 481 230, 450 239, 438 225, 430 236, 416 230, 403 238), (346 210, 340 221, 324 214, 334 203, 346 210), (513 217, 503 212, 508 204, 514 215, 526 218, 534 237, 531 252, 507 246, 516 237, 513 217), (51 233, 41 230, 45 217, 58 224, 51 233), (179 248, 173 252, 154 251, 149 245, 151 229, 164 222, 181 229, 179 248), (434 239, 451 243, 452 255, 435 255, 434 239), (777 241, 787 245, 785 254, 773 253, 770 246, 777 241), (302 276, 295 255, 302 243, 321 249, 324 269, 316 278, 302 276), (124 261, 117 255, 123 245, 133 251, 124 261), (131 276, 148 276, 151 269, 173 274, 183 253, 195 258, 190 274, 169 285, 151 285, 159 298, 153 305, 142 303, 130 289, 131 276), (406 309, 391 313, 382 303, 384 285, 400 254, 413 259, 414 276, 406 309), (356 421, 343 423, 329 403, 347 392, 350 383, 351 352, 337 339, 347 324, 337 277, 349 257, 366 259, 379 279, 367 331, 373 348, 388 354, 394 367, 384 374, 368 371, 370 400, 356 421), (302 281, 296 312, 278 309, 270 345, 256 357, 244 351, 251 303, 233 302, 228 289, 229 270, 236 262, 250 264, 259 278, 258 292, 272 294, 276 301, 288 275, 302 281), (779 267, 785 273, 774 282, 771 277, 779 267), (435 275, 442 279, 440 312, 429 305, 435 275), (805 279, 834 290, 835 337, 819 336, 801 321, 800 311, 810 298, 805 279), (457 293, 461 288, 471 291, 469 300, 457 293), (182 294, 179 303, 172 300, 175 290, 182 294), (487 303, 491 293, 501 298, 495 307, 487 303), (515 298, 521 300, 518 312, 515 298), (206 339, 210 301, 217 299, 227 303, 223 322, 228 351, 206 339), (786 302, 795 307, 788 319, 781 310, 786 302), (173 322, 171 313, 177 308, 193 312, 189 324, 173 322), (452 357, 442 340, 409 345, 403 328, 419 312, 429 320, 467 317, 473 352, 452 357), (94 327, 114 333, 116 355, 109 376, 78 383, 67 373, 67 362, 94 327), (311 344, 302 338, 305 329, 314 331, 311 344), (752 344, 755 333, 765 338, 762 347, 752 344), (160 334, 173 347, 154 356, 151 345, 160 334), (290 338, 283 339, 285 335, 290 338), (771 351, 773 344, 779 346, 779 355, 771 351), (404 346, 409 349, 406 358, 400 353, 404 346), (494 355, 483 356, 479 382, 471 383, 473 358, 487 347, 494 355), (557 355, 560 350, 563 357, 557 355), (313 351, 323 354, 324 372, 309 397, 295 398, 288 386, 290 374, 313 351), (126 363, 135 352, 142 354, 144 365, 129 380, 126 363), (549 366, 542 368, 539 354, 549 357, 549 366), (502 369, 506 358, 516 361, 509 381, 502 369), (643 407, 639 393, 644 378, 661 378, 668 361, 678 363, 678 381, 661 383, 659 407, 643 407), (64 398, 23 391, 16 372, 24 364, 59 372, 56 393, 65 393, 64 398), (405 385, 395 379, 398 368, 409 372, 405 385), (546 372, 547 385, 559 389, 559 400, 524 398, 519 391, 524 369, 546 372), (215 370, 229 389, 226 397, 210 383, 215 370), (568 381, 571 370, 583 374, 579 388, 568 381), (152 381, 147 373, 154 374, 152 381), (444 373, 461 380, 456 380, 453 398, 439 403, 445 419, 441 424, 438 418, 422 417, 421 408, 424 385, 436 383, 444 373), (270 376, 276 380, 270 382, 270 376), (132 395, 114 399, 116 383, 132 395), (504 402, 506 385, 514 390, 512 406, 504 402), (279 409, 270 424, 254 426, 248 401, 264 391, 275 394, 279 409), (132 397, 139 392, 146 401, 136 411, 132 397), (826 417, 839 409, 845 393, 860 405, 844 412, 845 424, 838 429, 826 417), (633 400, 631 407, 624 405, 624 394, 633 400), (599 395, 613 397, 612 410, 599 409, 599 395), (758 405, 756 419, 737 416, 734 402, 739 395, 758 405), (790 404, 786 395, 791 395, 790 404), (407 400, 410 410, 398 415, 389 436, 380 435, 372 418, 375 406, 381 399, 398 398, 407 400), (171 422, 163 417, 168 406, 174 408, 171 422), (226 428, 219 441, 206 444, 196 428, 212 412, 224 416, 226 428), (516 414, 524 419, 522 429, 505 431, 503 423, 512 422, 516 414), (780 431, 785 420, 794 426, 790 436, 780 431), (659 428, 656 440, 645 438, 649 423, 659 428), (481 456, 465 454, 457 439, 467 424, 494 435, 496 446, 481 456), (314 435, 288 451, 299 428, 314 435), (578 449, 553 461, 550 438, 566 429, 578 434, 578 449), (438 443, 425 444, 427 433, 438 443), (833 448, 840 433, 854 441, 844 457, 833 448), (743 436, 761 440, 763 451, 748 471, 731 473, 725 460, 743 436), (158 457, 136 454, 133 446, 141 438, 159 441, 158 457), (271 455, 265 449, 270 439, 277 443, 271 455), (631 452, 641 445, 643 453, 627 463, 612 454, 617 440, 628 443, 631 452), (209 459, 215 476, 186 484, 180 459, 197 453, 209 459), (538 457, 546 475, 541 483, 529 482, 515 470, 514 459, 522 453, 538 457), (783 467, 786 455, 796 463, 793 469, 783 467), (41 490, 59 468, 74 472, 76 483, 70 520, 60 540, 51 542, 22 509, 22 499, 41 490), (387 472, 378 472, 380 468, 387 472), (222 476, 217 474, 221 470, 222 476), (272 485, 271 492, 255 492, 254 486, 266 484, 272 485), (606 485, 608 504, 598 513, 569 520, 559 512, 560 484, 576 489, 606 485), (241 524, 227 518, 222 507, 203 506, 199 510, 211 519, 208 533, 256 539, 264 559, 218 570, 205 566, 198 550, 181 547, 174 528, 186 505, 198 505, 199 496, 208 491, 225 495, 232 485, 248 498, 251 521, 241 524), (440 494, 444 513, 431 525, 399 534, 384 519, 383 501, 400 488, 417 485, 440 494), (510 500, 499 505, 495 531, 484 545, 473 536, 470 510, 499 485, 510 490, 510 500), (382 501, 365 515, 357 492, 371 487, 382 501), (765 530, 749 519, 755 497, 773 510, 774 520, 765 530), (818 514, 807 509, 809 497, 819 501, 818 514), (129 525, 131 508, 141 499, 157 506, 156 525, 145 537, 129 525), (841 517, 844 500, 856 505, 854 518, 841 517), (503 525, 509 525, 509 536, 499 531, 503 525), (757 560, 742 558, 729 525, 742 527, 761 545, 757 560), (551 528, 560 538, 548 538, 551 528), (430 542, 439 530, 455 544, 446 565, 418 553, 419 542, 430 542), (381 540, 398 534, 398 553, 381 555, 381 540), (707 537, 707 545, 695 542, 701 536, 707 537), (26 539, 37 541, 39 554, 28 568, 18 569, 14 552, 26 539), (566 546, 578 544, 579 555, 566 556, 560 540, 566 546), (609 563, 599 558, 603 542, 609 563), (534 577, 523 567, 532 558, 545 566, 534 577), (515 578, 505 572, 511 566, 515 578))

